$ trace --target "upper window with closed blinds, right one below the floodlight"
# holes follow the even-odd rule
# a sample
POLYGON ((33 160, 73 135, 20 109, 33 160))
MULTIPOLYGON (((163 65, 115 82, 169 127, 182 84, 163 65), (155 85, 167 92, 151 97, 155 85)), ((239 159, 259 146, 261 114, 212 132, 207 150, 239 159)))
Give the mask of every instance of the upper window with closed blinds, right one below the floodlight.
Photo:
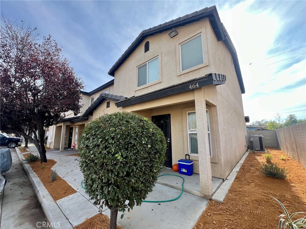
POLYGON ((181 71, 204 63, 202 36, 181 44, 181 71))

